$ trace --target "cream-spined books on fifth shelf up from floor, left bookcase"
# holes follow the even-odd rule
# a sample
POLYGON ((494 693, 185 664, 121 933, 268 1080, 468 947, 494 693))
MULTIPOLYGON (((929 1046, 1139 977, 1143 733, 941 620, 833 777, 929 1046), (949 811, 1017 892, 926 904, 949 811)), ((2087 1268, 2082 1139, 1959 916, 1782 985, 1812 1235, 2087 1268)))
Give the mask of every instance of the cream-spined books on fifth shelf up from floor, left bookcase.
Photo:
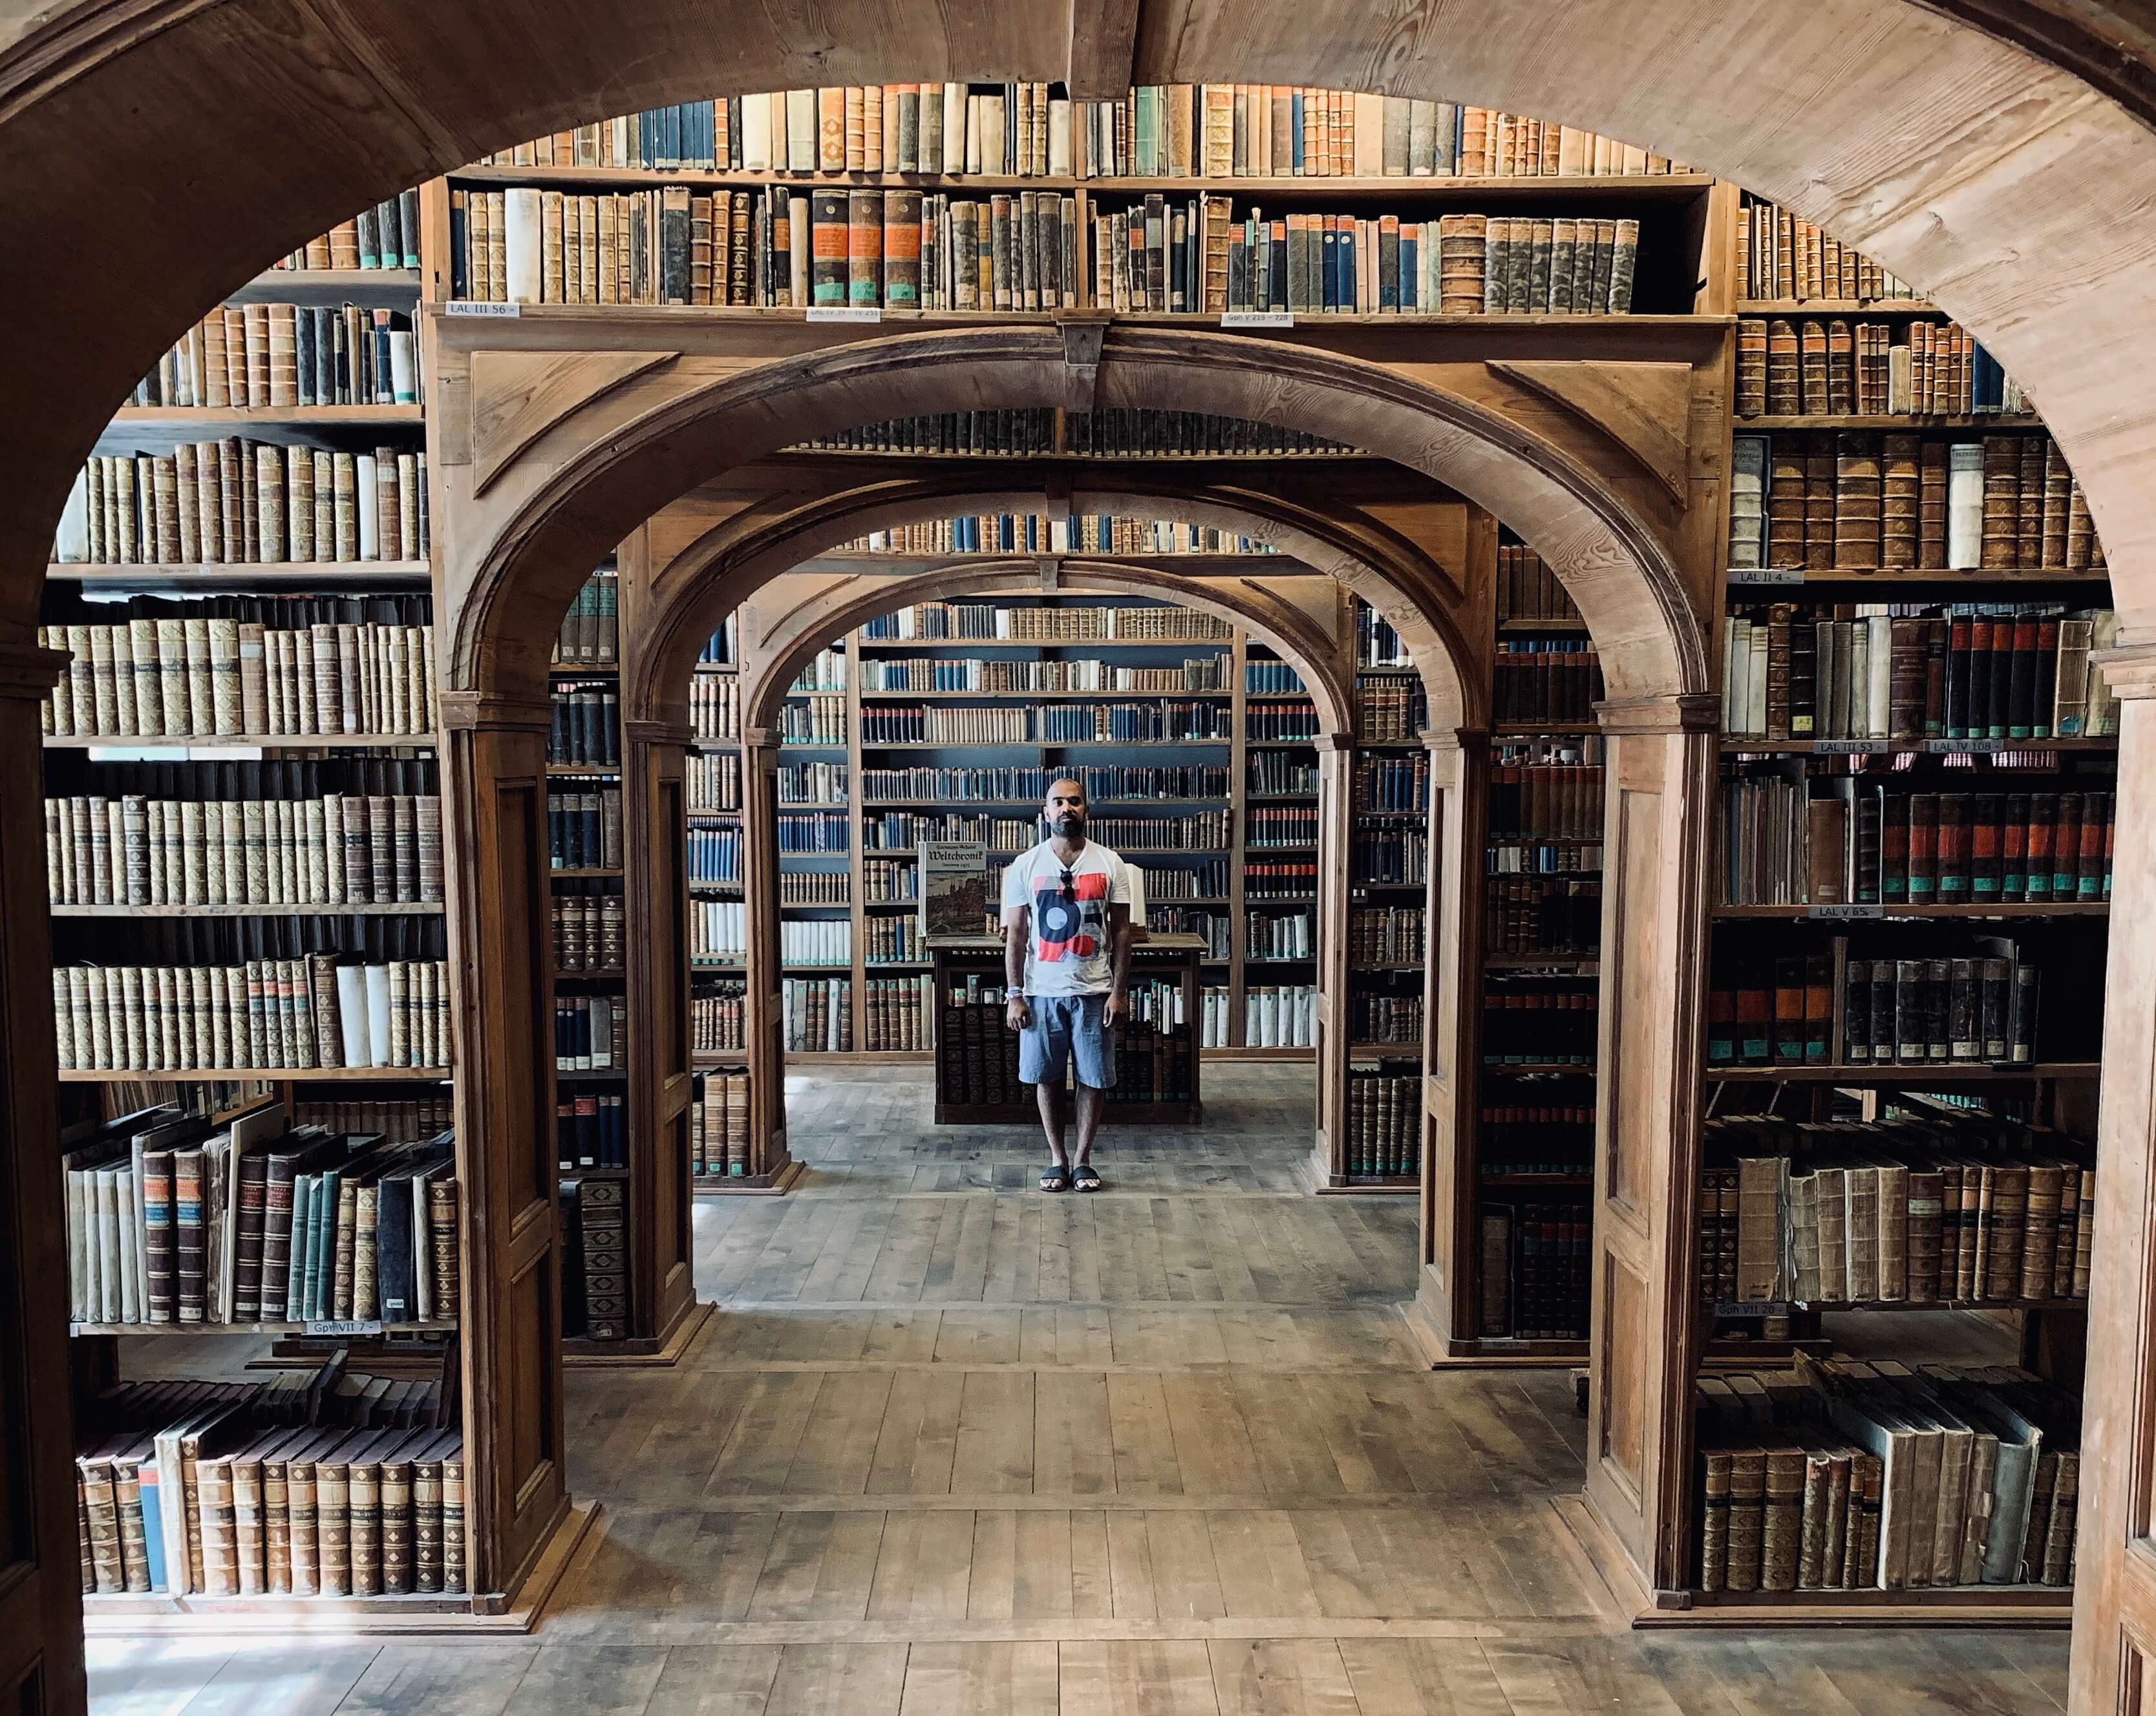
POLYGON ((39 627, 47 649, 71 658, 45 701, 47 733, 431 739, 431 625, 375 617, 384 604, 336 599, 216 597, 170 606, 190 612, 39 627))

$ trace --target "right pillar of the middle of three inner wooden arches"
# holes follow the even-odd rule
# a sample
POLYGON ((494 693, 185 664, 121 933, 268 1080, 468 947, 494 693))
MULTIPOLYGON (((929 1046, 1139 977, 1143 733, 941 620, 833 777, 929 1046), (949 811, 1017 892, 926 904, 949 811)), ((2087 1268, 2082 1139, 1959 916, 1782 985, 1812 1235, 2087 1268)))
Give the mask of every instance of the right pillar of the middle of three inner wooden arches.
POLYGON ((1481 1125, 1483 871, 1490 735, 1425 733, 1429 882, 1423 910, 1423 1257, 1408 1326, 1432 1362, 1481 1332, 1475 1293, 1475 1175, 1481 1125))

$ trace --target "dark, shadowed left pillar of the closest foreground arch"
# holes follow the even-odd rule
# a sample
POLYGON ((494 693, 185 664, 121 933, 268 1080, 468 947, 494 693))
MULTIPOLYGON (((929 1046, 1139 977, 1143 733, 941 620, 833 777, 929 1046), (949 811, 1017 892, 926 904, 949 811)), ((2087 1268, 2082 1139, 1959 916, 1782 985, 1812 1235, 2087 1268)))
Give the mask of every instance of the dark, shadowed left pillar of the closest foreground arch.
POLYGON ((88 1707, 67 1352, 39 707, 67 655, 0 645, 0 1705, 88 1707))

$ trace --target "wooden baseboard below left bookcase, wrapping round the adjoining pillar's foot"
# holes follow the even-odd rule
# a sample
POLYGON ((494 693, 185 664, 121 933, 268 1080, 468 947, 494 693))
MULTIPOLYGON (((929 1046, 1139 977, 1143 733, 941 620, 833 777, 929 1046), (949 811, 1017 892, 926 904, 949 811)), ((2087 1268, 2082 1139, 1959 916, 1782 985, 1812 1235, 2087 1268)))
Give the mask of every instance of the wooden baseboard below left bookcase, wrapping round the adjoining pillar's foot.
POLYGON ((289 1634, 526 1634, 561 1587, 604 1516, 595 1500, 567 1503, 561 1520, 513 1591, 500 1595, 386 1595, 386 1597, 172 1597, 162 1593, 103 1593, 82 1600, 82 1630, 91 1638, 144 1634, 233 1634, 246 1638, 289 1634))

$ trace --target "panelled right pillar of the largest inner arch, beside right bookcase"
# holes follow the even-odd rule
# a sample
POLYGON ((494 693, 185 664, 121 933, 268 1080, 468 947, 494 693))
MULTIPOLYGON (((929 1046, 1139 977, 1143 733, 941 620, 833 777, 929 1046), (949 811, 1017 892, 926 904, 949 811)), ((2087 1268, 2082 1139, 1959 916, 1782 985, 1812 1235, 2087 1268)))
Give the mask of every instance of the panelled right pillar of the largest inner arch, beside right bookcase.
MULTIPOLYGON (((1587 1507, 1643 1600, 1684 1580, 1718 698, 1598 705, 1608 739, 1587 1507)), ((1606 1556, 1608 1559, 1608 1556, 1606 1556)), ((1613 1572, 1606 1567, 1606 1572, 1613 1572)))

